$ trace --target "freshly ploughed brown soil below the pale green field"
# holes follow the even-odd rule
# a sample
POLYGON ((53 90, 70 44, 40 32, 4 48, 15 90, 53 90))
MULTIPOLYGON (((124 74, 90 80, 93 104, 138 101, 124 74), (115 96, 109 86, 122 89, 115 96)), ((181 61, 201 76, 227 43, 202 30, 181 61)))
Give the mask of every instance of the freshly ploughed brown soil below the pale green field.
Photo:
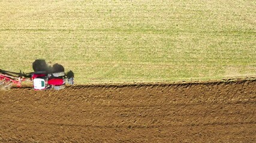
POLYGON ((0 91, 0 142, 256 142, 256 81, 0 91))

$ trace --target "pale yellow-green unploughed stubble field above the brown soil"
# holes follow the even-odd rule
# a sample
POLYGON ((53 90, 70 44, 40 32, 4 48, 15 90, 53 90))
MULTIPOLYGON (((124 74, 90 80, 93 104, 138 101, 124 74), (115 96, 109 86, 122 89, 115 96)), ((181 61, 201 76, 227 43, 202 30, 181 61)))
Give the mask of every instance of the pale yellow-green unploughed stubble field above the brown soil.
POLYGON ((77 84, 255 77, 255 1, 0 1, 0 68, 77 84))

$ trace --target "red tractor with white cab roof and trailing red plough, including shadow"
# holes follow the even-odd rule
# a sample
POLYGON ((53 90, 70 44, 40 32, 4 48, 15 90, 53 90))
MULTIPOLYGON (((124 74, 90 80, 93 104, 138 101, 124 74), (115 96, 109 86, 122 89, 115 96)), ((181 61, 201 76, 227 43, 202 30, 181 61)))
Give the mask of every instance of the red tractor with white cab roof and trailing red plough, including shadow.
POLYGON ((46 89, 64 89, 66 83, 74 84, 74 73, 64 72, 64 67, 60 64, 54 64, 53 67, 48 66, 44 60, 35 60, 32 64, 34 72, 32 73, 14 73, 10 71, 0 70, 0 85, 7 88, 12 85, 22 86, 22 82, 33 82, 33 88, 37 91, 46 89))

